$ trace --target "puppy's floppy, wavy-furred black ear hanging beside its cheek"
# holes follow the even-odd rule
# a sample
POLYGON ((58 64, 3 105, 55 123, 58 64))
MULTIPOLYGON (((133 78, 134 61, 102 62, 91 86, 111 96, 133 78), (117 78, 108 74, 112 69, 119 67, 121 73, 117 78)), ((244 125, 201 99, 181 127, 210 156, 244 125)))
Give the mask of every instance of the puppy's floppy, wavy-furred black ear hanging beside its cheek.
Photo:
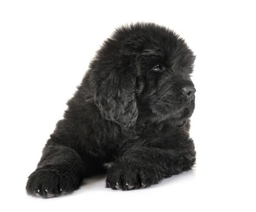
POLYGON ((97 82, 95 102, 103 118, 128 130, 136 124, 138 116, 135 67, 111 68, 104 70, 101 76, 105 79, 97 82))

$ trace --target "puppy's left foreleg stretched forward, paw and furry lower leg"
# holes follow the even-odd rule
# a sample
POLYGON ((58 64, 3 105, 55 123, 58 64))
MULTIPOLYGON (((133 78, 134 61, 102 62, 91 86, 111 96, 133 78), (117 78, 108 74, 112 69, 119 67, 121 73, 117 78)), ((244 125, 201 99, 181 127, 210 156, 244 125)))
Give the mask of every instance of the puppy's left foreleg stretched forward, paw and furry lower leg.
POLYGON ((83 179, 85 165, 78 153, 63 145, 46 145, 36 170, 30 174, 27 193, 53 197, 76 190, 83 179))

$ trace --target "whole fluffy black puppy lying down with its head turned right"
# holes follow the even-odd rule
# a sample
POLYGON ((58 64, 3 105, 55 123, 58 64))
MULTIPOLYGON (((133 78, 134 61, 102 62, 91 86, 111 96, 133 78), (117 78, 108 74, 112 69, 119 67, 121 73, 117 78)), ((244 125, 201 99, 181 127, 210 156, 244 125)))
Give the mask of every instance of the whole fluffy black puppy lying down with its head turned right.
POLYGON ((71 193, 84 177, 105 171, 106 187, 130 190, 190 170, 194 60, 184 40, 165 27, 118 28, 67 102, 27 193, 71 193))

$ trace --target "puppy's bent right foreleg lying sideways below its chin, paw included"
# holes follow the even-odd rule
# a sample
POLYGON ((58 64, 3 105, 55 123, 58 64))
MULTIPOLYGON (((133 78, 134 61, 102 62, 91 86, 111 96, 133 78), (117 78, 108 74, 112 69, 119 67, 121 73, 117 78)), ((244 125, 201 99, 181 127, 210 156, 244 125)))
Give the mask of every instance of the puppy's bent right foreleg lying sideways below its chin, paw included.
POLYGON ((161 179, 189 170, 195 151, 134 147, 126 151, 108 170, 106 187, 129 190, 157 184, 161 179))

